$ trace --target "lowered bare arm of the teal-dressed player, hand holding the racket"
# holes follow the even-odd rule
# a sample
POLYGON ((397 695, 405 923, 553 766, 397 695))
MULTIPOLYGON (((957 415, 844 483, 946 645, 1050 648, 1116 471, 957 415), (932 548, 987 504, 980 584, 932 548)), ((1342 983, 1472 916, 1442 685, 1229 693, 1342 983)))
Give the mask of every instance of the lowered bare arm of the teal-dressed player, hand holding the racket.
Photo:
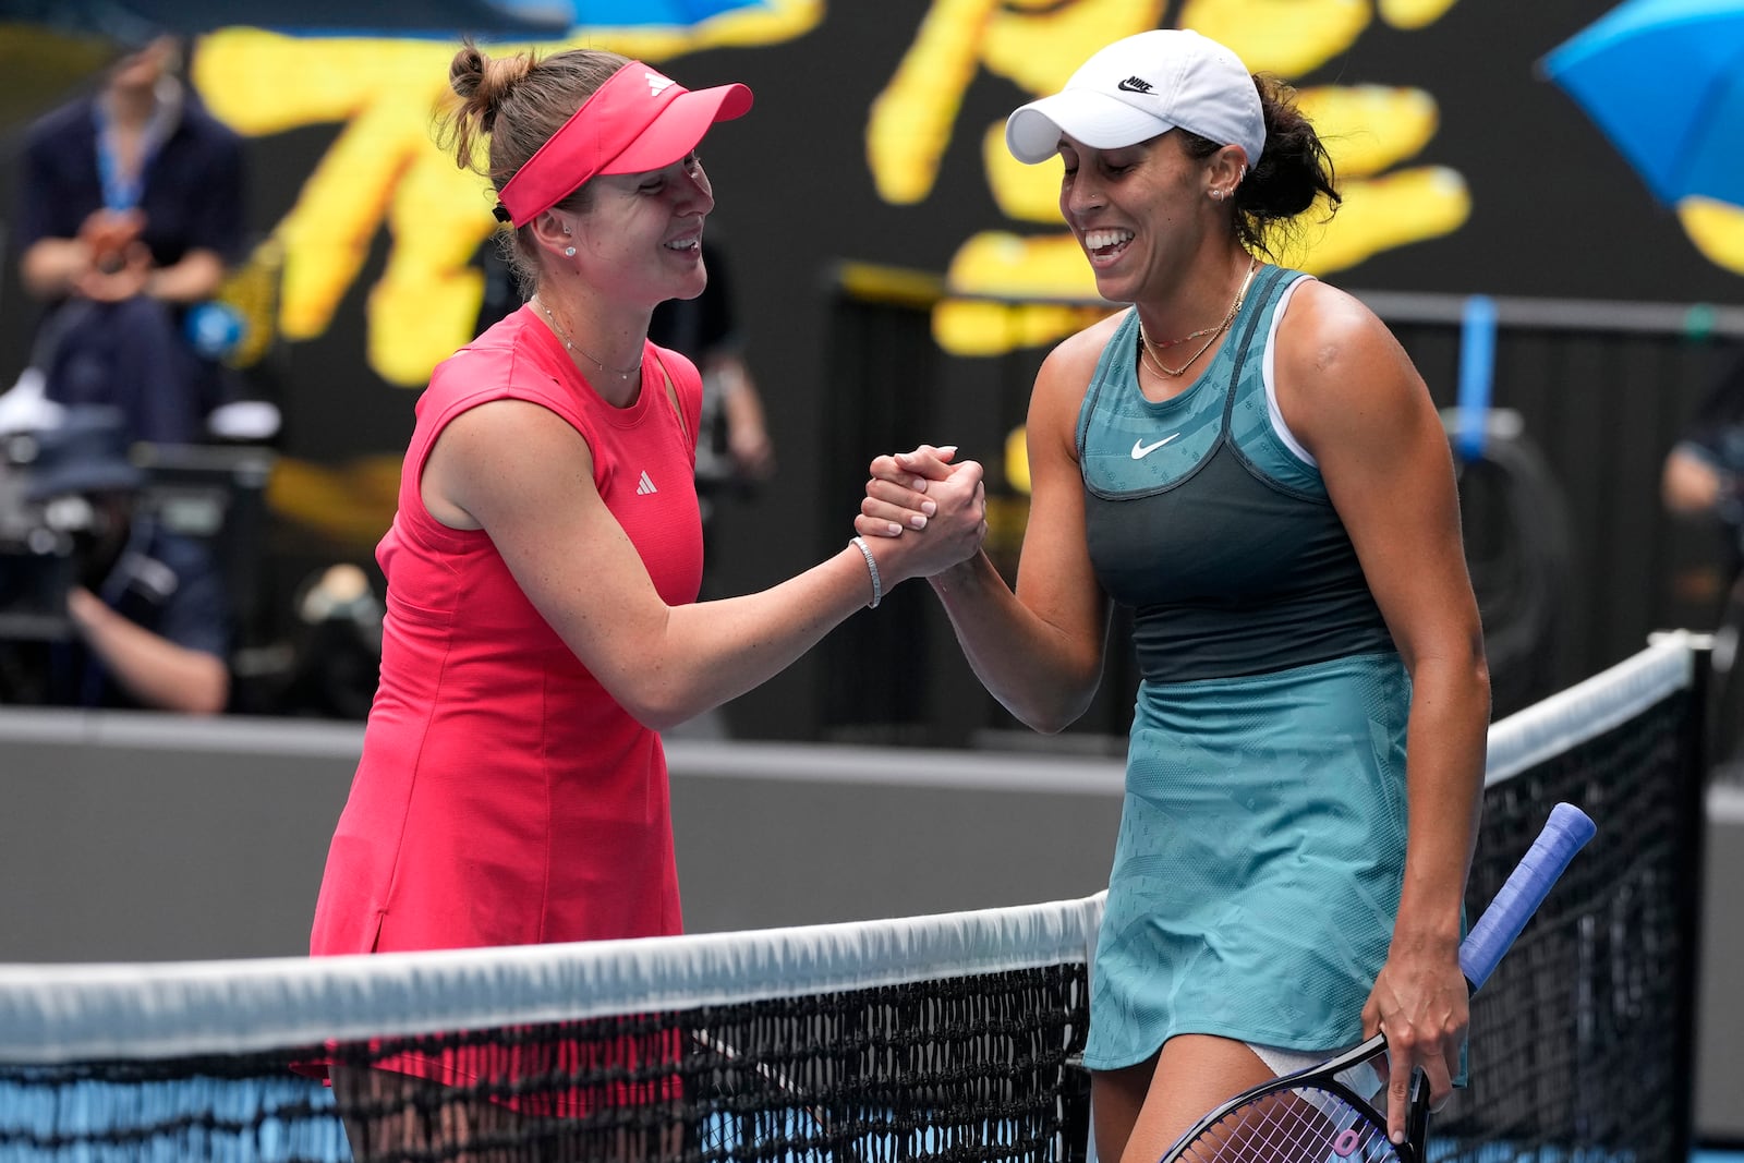
POLYGON ((1320 464, 1411 675, 1404 889, 1362 1013, 1366 1034, 1386 1030, 1388 1123, 1402 1130, 1411 1067, 1423 1067, 1439 1104, 1465 1041, 1460 907, 1489 727, 1482 624, 1448 436, 1386 326, 1350 295, 1306 282, 1280 324, 1275 370, 1284 420, 1320 464))

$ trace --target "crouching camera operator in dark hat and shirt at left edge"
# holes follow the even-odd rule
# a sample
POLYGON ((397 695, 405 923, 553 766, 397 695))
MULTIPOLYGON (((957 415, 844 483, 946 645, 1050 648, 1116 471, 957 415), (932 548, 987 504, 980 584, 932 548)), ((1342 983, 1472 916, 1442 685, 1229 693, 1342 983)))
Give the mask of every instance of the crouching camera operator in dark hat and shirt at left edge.
POLYGON ((10 513, 5 525, 30 528, 0 553, 0 614, 33 603, 51 631, 0 642, 7 701, 223 711, 223 582, 206 546, 164 530, 141 504, 145 473, 127 457, 120 413, 68 408, 54 427, 9 443, 24 450, 5 473, 23 479, 28 516, 10 513))

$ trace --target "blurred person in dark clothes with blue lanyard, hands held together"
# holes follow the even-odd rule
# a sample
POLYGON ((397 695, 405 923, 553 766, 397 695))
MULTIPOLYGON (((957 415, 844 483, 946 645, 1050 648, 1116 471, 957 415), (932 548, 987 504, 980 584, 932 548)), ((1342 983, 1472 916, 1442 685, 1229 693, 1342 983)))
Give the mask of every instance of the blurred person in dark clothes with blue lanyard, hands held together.
POLYGON ((227 370, 190 319, 244 244, 241 139, 181 82, 181 56, 150 40, 31 124, 12 223, 44 307, 19 387, 115 406, 129 439, 169 445, 202 439, 225 403, 227 370))

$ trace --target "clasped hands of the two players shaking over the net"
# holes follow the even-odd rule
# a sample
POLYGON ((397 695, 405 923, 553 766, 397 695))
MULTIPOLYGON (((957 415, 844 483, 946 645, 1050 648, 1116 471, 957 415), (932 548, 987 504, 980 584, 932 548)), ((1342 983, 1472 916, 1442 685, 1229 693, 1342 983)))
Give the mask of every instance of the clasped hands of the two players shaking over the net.
POLYGON ((940 574, 973 558, 987 539, 984 469, 956 455, 956 445, 921 445, 872 460, 855 532, 891 542, 884 568, 896 579, 940 574))

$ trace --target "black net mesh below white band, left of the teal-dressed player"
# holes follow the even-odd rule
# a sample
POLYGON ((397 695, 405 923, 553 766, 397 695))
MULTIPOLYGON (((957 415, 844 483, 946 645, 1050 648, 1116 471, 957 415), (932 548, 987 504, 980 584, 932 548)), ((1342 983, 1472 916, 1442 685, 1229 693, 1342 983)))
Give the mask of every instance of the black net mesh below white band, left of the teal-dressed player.
POLYGON ((5 1160, 1069 1160, 1083 964, 579 1022, 0 1065, 5 1160), (324 1074, 331 1086, 314 1081, 324 1074))

